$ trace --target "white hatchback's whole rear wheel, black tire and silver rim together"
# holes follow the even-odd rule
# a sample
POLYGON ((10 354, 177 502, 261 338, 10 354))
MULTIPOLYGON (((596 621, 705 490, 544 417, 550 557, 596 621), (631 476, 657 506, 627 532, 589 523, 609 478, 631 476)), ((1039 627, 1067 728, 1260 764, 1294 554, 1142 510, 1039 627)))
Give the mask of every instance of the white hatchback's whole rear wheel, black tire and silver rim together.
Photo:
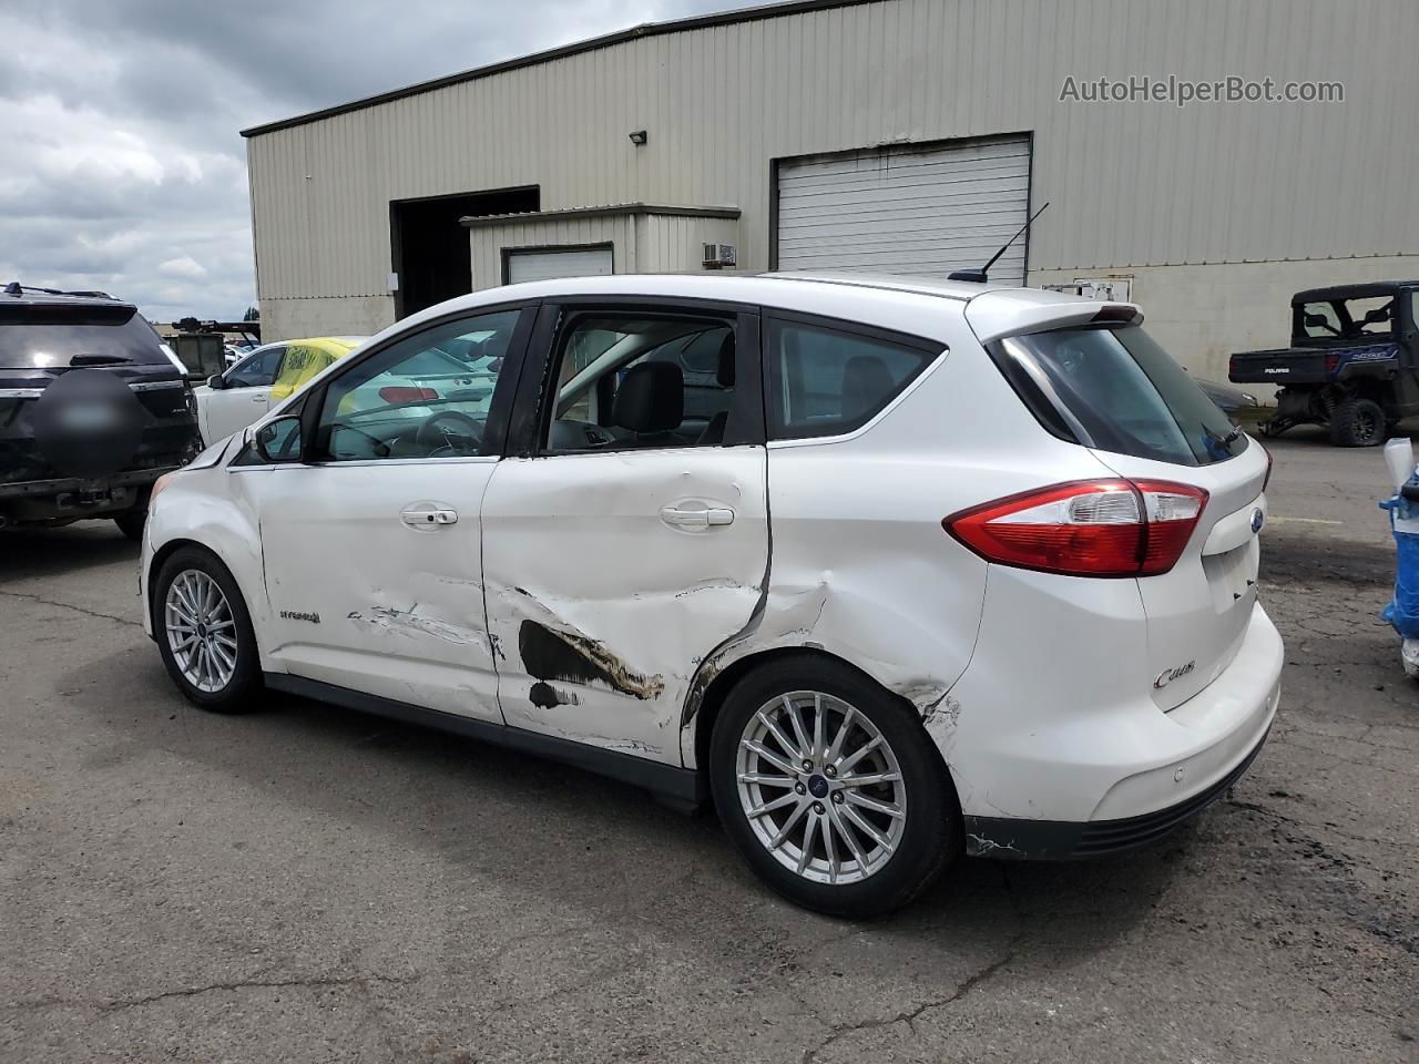
POLYGON ((961 851, 961 810, 915 711, 832 660, 771 663, 729 692, 710 782, 731 841, 785 898, 901 908, 961 851))

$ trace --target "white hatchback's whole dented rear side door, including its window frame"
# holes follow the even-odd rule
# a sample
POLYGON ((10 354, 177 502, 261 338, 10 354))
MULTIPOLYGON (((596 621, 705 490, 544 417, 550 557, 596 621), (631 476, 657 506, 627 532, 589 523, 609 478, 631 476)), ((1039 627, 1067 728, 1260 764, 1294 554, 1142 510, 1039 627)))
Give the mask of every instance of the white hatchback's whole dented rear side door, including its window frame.
MULTIPOLYGON (((509 726, 680 765, 680 716, 695 670, 749 623, 762 597, 768 453, 758 314, 650 309, 653 323, 657 314, 710 315, 691 321, 683 338, 687 346, 719 349, 718 373, 694 363, 684 372, 678 434, 626 433, 606 409, 597 411, 596 393, 607 406, 609 393, 630 376, 627 366, 663 359, 674 340, 640 349, 648 355, 623 340, 631 345, 630 362, 607 363, 607 380, 583 401, 568 392, 585 369, 568 353, 573 340, 610 331, 610 342, 622 335, 614 328, 630 336, 651 326, 629 309, 616 326, 616 308, 600 306, 599 314, 610 315, 607 328, 587 326, 569 338, 578 308, 545 306, 538 329, 558 369, 529 387, 535 348, 529 352, 518 401, 541 413, 522 410, 525 454, 499 462, 488 484, 484 579, 498 698, 509 726), (731 404, 727 430, 710 413, 714 389, 701 389, 700 376, 717 377, 718 401, 731 404), (705 394, 692 394, 697 389, 705 394), (593 437, 604 433, 604 441, 576 453, 555 450, 549 411, 556 403, 556 419, 593 437), (725 431, 719 443, 704 443, 718 431, 725 431)), ((565 437, 566 424, 558 431, 565 437)))

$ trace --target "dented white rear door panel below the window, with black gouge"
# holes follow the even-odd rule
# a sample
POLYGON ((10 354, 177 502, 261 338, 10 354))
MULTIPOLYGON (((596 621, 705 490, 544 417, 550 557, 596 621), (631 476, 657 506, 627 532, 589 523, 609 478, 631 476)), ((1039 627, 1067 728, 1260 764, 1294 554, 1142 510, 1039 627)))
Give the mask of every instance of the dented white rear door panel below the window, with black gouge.
POLYGON ((499 462, 482 533, 507 722, 680 765, 695 668, 761 599, 765 472, 753 445, 499 462), (734 522, 673 528, 664 506, 734 522))

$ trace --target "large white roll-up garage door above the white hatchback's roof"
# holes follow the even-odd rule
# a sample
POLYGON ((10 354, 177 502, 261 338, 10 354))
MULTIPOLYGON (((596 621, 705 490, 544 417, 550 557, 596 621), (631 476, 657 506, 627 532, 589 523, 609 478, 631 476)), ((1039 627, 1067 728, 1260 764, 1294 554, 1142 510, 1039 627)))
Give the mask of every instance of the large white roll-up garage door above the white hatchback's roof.
MULTIPOLYGON (((778 268, 945 278, 1025 224, 1030 139, 881 148, 779 163, 778 268)), ((1025 284, 1025 237, 990 270, 1025 284)))

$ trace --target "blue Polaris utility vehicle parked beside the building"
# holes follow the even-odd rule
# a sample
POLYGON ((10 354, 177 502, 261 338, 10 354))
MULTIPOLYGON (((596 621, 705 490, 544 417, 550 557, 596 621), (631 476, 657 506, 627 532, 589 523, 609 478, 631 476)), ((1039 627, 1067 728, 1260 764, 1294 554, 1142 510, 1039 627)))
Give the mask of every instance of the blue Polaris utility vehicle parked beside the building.
POLYGON ((1266 436, 1330 427, 1337 447, 1378 447, 1419 414, 1419 281, 1313 288, 1291 297, 1291 346, 1232 356, 1235 383, 1279 384, 1266 436))

